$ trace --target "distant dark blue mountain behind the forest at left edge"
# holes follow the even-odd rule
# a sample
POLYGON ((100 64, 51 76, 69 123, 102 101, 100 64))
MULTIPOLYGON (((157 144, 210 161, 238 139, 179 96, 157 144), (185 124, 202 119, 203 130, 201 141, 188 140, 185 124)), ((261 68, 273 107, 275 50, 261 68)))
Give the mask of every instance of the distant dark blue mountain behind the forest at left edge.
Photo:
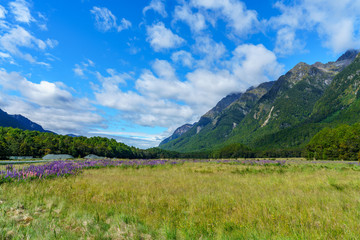
POLYGON ((1 127, 12 127, 23 130, 39 131, 39 132, 50 132, 44 130, 39 124, 32 122, 28 118, 22 115, 10 115, 0 109, 0 126, 1 127))

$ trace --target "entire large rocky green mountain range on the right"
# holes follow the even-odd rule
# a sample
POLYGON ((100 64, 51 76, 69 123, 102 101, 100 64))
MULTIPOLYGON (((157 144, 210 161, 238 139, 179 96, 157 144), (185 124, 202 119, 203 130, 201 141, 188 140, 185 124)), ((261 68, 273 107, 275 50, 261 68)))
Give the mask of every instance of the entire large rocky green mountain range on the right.
POLYGON ((349 50, 326 64, 300 62, 277 81, 248 89, 214 114, 213 108, 181 137, 160 147, 181 152, 230 143, 258 149, 302 147, 330 123, 356 122, 358 53, 349 50))

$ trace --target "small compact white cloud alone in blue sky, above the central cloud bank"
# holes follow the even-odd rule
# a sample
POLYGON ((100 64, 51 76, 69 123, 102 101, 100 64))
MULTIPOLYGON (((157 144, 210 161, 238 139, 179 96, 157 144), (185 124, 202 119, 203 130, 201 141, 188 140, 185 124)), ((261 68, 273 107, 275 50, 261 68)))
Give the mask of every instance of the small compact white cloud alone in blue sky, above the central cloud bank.
POLYGON ((146 40, 157 52, 164 49, 179 47, 185 42, 184 39, 174 34, 170 29, 167 29, 162 22, 159 22, 152 26, 147 26, 146 33, 146 40))

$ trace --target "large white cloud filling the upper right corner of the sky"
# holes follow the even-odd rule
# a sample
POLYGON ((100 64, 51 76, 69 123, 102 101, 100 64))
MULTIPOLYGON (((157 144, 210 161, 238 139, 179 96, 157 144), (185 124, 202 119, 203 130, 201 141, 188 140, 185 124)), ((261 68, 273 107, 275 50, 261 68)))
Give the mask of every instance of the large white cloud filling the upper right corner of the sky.
POLYGON ((278 30, 275 50, 279 53, 305 46, 296 35, 299 31, 315 31, 323 45, 336 53, 360 47, 358 1, 302 0, 291 5, 279 1, 275 7, 281 15, 269 23, 278 30))

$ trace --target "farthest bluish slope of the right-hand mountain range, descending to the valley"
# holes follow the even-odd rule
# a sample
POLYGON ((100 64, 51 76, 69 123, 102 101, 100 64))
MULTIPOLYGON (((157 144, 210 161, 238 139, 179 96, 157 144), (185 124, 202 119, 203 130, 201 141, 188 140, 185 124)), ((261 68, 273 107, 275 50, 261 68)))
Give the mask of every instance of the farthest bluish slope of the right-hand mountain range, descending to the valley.
POLYGON ((221 144, 272 85, 273 82, 267 82, 250 88, 245 93, 226 96, 185 134, 160 147, 186 152, 206 150, 221 144))

